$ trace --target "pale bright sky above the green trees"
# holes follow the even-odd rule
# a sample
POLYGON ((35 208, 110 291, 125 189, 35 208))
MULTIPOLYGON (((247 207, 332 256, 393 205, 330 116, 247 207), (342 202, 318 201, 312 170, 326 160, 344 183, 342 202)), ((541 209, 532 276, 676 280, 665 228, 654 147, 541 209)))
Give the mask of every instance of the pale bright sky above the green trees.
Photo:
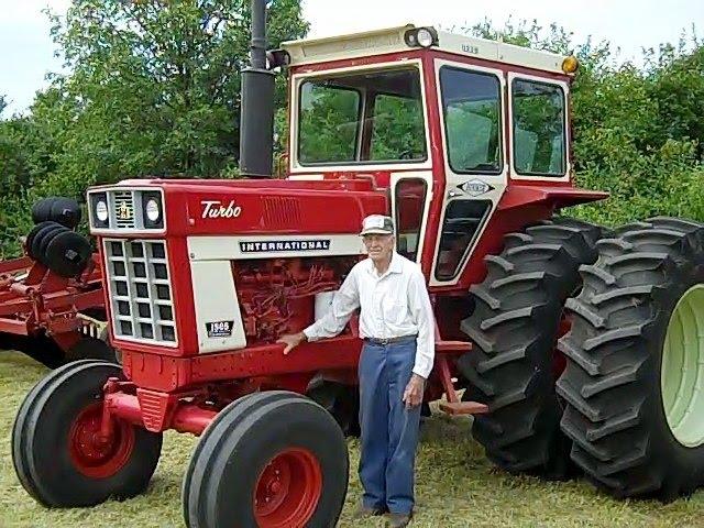
MULTIPOLYGON (((302 0, 309 36, 404 25, 436 25, 446 30, 473 25, 484 19, 503 25, 536 19, 556 22, 574 33, 574 42, 587 36, 610 41, 622 59, 638 59, 641 47, 676 43, 683 31, 697 24, 704 36, 702 0, 302 0)), ((3 113, 24 111, 36 90, 47 86, 48 72, 58 72, 50 24, 42 10, 62 14, 69 0, 0 0, 0 95, 10 100, 3 113)))

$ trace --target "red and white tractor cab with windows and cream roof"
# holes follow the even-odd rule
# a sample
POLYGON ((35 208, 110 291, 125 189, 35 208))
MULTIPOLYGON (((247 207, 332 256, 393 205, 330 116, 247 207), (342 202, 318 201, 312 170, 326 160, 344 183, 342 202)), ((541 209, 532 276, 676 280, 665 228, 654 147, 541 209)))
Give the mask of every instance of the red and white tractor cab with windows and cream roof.
POLYGON ((386 189, 397 250, 430 286, 482 274, 470 262, 492 245, 482 232, 518 227, 501 209, 535 202, 547 218, 601 197, 571 188, 572 56, 407 25, 288 42, 270 57, 290 73, 288 179, 386 189))

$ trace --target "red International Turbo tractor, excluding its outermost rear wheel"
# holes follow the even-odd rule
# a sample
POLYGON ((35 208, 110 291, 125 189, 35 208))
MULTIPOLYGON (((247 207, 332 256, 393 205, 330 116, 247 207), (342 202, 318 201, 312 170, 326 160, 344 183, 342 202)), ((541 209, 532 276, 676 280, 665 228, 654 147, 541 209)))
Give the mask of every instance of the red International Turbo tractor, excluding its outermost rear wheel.
POLYGON ((73 363, 28 395, 12 438, 26 491, 57 507, 140 494, 175 429, 201 436, 187 526, 332 526, 348 486, 343 432, 356 428, 356 322, 288 356, 276 340, 319 317, 365 257, 370 213, 393 216, 397 251, 427 277, 426 402, 444 395, 441 410, 475 414, 473 436, 498 466, 569 475, 557 341, 604 233, 556 213, 606 196, 573 185, 575 58, 413 25, 289 42, 265 58, 264 2, 253 7, 248 178, 88 191, 122 367, 73 363), (277 67, 289 74, 284 178, 272 178, 277 67))

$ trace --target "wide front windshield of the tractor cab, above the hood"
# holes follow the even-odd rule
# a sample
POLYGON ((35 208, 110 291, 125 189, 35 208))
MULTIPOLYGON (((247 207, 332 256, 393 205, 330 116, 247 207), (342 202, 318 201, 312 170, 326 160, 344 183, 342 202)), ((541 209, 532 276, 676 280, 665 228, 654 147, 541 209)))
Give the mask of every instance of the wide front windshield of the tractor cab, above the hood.
POLYGON ((298 97, 301 165, 427 158, 420 73, 416 67, 315 77, 300 84, 298 97))

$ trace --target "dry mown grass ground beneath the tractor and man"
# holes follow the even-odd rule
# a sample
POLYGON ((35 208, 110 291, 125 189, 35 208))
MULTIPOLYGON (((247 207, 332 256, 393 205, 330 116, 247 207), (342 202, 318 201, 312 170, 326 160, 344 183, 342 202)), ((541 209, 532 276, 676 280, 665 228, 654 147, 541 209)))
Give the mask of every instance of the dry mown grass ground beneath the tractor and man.
MULTIPOLYGON (((46 370, 16 353, 0 353, 0 528, 176 528, 182 527, 180 482, 196 439, 168 433, 147 493, 132 501, 88 509, 50 510, 36 505, 18 482, 10 458, 14 414, 24 394, 46 370)), ((471 440, 469 420, 433 417, 424 426, 417 461, 417 514, 411 526, 450 527, 704 527, 704 491, 690 499, 618 502, 583 481, 546 483, 495 470, 471 440)), ((356 468, 359 449, 350 441, 356 468)), ((350 514, 360 484, 355 471, 341 527, 355 526, 350 514)), ((384 526, 383 520, 370 527, 384 526)))

